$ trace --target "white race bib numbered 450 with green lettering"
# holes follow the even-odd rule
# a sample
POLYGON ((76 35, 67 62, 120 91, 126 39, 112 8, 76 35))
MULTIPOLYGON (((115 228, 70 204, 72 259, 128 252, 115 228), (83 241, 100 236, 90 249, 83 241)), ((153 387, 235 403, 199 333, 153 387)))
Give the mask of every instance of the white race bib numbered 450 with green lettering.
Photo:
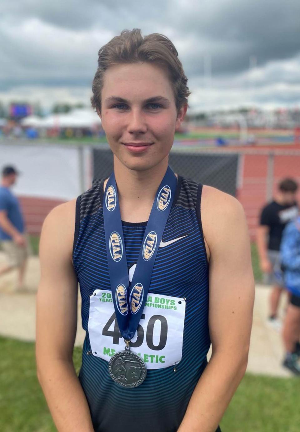
MULTIPOLYGON (((144 360, 148 369, 177 365, 182 358, 185 299, 148 293, 144 311, 134 337, 131 351, 144 360)), ((94 356, 109 362, 124 349, 112 292, 95 289, 89 299, 89 340, 94 356)))

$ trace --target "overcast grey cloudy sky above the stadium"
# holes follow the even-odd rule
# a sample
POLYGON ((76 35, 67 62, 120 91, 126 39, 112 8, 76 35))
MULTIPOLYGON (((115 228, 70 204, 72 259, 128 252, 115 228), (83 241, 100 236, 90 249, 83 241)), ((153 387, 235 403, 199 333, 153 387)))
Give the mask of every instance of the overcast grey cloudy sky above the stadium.
POLYGON ((133 28, 173 41, 192 109, 300 107, 300 0, 1 0, 0 101, 89 105, 99 48, 133 28))

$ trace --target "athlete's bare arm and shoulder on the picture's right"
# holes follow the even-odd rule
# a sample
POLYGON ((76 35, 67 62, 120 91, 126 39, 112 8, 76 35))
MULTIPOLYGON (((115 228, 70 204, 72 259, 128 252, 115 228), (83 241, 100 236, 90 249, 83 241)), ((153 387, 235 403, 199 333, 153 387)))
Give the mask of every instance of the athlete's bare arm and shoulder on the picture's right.
POLYGON ((243 208, 230 195, 206 186, 201 214, 210 249, 209 330, 213 353, 179 432, 215 432, 245 374, 252 327, 254 280, 243 208))

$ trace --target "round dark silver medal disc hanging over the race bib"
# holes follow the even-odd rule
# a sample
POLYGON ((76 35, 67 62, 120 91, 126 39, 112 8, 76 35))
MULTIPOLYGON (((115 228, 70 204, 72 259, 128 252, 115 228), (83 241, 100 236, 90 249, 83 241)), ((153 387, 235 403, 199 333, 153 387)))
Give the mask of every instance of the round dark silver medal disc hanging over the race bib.
POLYGON ((122 387, 134 388, 142 384, 147 375, 143 360, 129 350, 119 351, 109 361, 109 374, 122 387))

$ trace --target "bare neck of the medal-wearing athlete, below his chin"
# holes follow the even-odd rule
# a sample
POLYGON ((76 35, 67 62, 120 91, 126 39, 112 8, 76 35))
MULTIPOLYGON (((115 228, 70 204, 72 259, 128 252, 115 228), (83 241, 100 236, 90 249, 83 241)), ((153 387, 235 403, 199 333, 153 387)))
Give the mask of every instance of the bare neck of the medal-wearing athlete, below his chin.
POLYGON ((120 203, 153 203, 156 191, 168 168, 168 157, 146 171, 134 171, 114 157, 115 179, 120 203))

